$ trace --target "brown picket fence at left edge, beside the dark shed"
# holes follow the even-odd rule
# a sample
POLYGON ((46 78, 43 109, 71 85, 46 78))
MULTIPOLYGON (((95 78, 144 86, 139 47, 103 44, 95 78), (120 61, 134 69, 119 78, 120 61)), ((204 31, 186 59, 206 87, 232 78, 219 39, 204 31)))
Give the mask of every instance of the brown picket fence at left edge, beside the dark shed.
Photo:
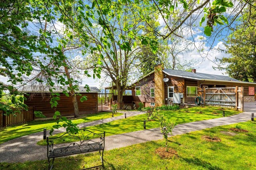
POLYGON ((20 113, 5 115, 4 112, 0 111, 0 126, 6 127, 10 125, 16 125, 32 121, 35 119, 34 107, 28 107, 28 110, 22 110, 20 113))

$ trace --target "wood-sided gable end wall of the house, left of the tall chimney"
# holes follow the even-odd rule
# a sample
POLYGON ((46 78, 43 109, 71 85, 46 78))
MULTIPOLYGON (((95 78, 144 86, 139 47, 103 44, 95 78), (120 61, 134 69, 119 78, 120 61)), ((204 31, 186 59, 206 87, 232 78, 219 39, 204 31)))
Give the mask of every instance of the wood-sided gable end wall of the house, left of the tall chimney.
POLYGON ((138 102, 155 102, 154 98, 150 97, 150 88, 154 88, 154 73, 140 80, 132 87, 132 100, 138 102), (140 96, 135 96, 135 87, 140 87, 140 96))

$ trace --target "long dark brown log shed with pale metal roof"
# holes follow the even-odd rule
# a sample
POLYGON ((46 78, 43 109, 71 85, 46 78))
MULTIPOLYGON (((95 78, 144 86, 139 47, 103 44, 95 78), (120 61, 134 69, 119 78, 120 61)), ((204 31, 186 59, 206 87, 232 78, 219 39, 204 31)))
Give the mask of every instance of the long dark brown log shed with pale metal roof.
MULTIPOLYGON (((67 87, 54 86, 55 90, 53 92, 58 92, 60 94, 60 100, 58 100, 58 106, 56 110, 60 111, 62 116, 74 116, 74 106, 72 103, 72 97, 67 97, 62 93, 62 88, 67 89, 67 87)), ((27 100, 24 104, 27 106, 34 106, 35 111, 42 111, 46 117, 52 117, 55 110, 50 104, 50 91, 47 86, 23 86, 20 92, 24 93, 27 100)), ((67 90, 68 91, 68 90, 67 90)), ((82 96, 77 96, 78 108, 80 115, 97 113, 98 111, 98 93, 100 90, 96 87, 90 87, 89 92, 86 91, 84 87, 79 87, 77 91, 82 96, 87 96, 87 100, 80 102, 82 96)))

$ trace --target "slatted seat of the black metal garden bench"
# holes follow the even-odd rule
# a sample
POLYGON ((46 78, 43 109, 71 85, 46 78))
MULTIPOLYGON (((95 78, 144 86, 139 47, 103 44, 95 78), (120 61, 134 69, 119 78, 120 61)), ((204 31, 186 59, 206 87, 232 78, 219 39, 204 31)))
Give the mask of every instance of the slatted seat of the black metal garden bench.
POLYGON ((97 150, 103 150, 103 146, 100 143, 87 143, 79 146, 69 146, 53 149, 49 158, 56 158, 60 156, 67 156, 72 154, 80 154, 85 152, 93 152, 97 150))

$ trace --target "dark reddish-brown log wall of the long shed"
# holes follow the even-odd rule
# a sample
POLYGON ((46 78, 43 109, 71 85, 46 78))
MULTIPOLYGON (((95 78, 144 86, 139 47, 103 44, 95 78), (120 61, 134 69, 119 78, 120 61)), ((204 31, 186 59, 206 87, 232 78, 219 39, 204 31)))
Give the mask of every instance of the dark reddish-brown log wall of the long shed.
MULTIPOLYGON (((79 114, 85 115, 85 114, 92 114, 97 113, 97 93, 80 93, 82 96, 87 96, 86 101, 80 102, 80 98, 82 96, 77 96, 77 102, 78 102, 78 108, 79 108, 79 114)), ((50 94, 46 93, 44 96, 42 94, 35 94, 33 96, 27 97, 28 100, 26 100, 24 103, 27 106, 34 106, 35 111, 42 111, 42 113, 46 117, 52 117, 55 110, 51 107, 50 104, 50 94)), ((60 114, 62 116, 73 116, 74 115, 74 106, 72 103, 72 98, 67 97, 64 94, 60 94, 60 100, 58 101, 58 106, 56 110, 60 111, 60 114)))

